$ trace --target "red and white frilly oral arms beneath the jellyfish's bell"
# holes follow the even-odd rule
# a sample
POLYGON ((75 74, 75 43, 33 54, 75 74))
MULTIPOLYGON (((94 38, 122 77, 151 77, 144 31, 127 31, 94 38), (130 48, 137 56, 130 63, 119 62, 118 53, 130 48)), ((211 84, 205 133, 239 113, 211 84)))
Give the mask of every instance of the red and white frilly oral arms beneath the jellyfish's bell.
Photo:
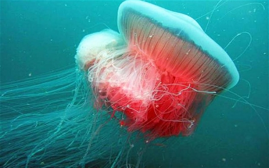
POLYGON ((173 76, 145 53, 132 50, 111 50, 115 57, 90 68, 96 103, 112 107, 112 117, 123 113, 119 124, 130 132, 140 130, 149 139, 191 134, 212 95, 197 92, 193 82, 173 76))

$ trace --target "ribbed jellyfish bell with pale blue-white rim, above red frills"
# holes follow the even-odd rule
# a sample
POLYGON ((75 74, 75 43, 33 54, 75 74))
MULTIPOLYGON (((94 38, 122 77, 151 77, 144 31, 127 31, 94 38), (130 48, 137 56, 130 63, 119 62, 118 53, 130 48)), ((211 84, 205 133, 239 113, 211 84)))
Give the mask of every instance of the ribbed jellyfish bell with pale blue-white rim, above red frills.
MULTIPOLYGON (((229 55, 187 15, 143 1, 125 1, 118 9, 118 29, 130 50, 143 51, 158 67, 175 77, 184 76, 184 72, 191 69, 186 75, 195 80, 201 74, 195 71, 205 71, 205 74, 218 64, 220 68, 216 69, 225 73, 221 76, 227 75, 226 78, 220 77, 227 79, 227 83, 222 84, 225 88, 233 87, 239 80, 239 73, 229 55)), ((205 78, 206 84, 218 80, 210 75, 203 76, 201 78, 205 78)))

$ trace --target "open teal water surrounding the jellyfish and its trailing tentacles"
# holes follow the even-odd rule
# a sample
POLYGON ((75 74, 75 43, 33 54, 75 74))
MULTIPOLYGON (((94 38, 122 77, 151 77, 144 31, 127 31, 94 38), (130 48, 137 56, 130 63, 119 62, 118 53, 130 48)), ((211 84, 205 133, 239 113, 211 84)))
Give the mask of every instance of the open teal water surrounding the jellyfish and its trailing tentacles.
MULTIPOLYGON (((268 168, 268 0, 148 1, 188 14, 222 47, 237 34, 248 33, 237 36, 225 48, 239 71, 239 83, 231 92, 215 98, 191 136, 173 137, 143 151, 141 167, 268 168)), ((75 67, 76 48, 85 35, 106 28, 117 31, 120 3, 1 0, 0 83, 31 80, 75 67)), ((105 167, 100 165, 96 168, 105 167)))

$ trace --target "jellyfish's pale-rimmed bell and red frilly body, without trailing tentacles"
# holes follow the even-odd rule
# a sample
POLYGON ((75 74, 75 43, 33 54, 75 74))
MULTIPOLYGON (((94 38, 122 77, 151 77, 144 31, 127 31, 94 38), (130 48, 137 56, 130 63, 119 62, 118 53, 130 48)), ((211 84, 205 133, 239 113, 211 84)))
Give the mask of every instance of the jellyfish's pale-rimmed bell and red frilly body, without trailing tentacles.
POLYGON ((82 40, 77 62, 98 58, 86 63, 96 101, 109 105, 112 117, 122 112, 118 120, 130 132, 149 139, 190 135, 215 95, 239 80, 229 55, 187 15, 127 0, 118 9, 118 30, 88 35, 91 42, 107 33, 117 38, 95 45, 82 40))

